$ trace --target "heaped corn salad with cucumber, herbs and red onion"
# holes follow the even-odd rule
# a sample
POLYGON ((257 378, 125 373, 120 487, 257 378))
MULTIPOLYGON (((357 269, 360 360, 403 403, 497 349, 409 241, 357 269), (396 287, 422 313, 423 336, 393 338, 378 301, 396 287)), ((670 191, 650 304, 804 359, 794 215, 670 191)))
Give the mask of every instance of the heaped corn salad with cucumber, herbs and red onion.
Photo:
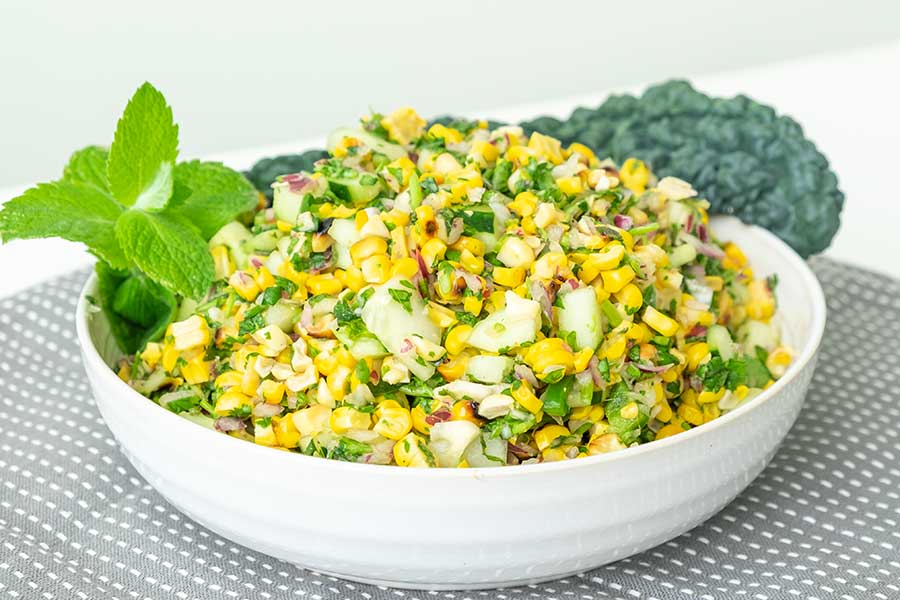
POLYGON ((213 236, 134 389, 282 451, 490 467, 678 435, 791 361, 776 281, 639 158, 409 108, 328 145, 213 236))

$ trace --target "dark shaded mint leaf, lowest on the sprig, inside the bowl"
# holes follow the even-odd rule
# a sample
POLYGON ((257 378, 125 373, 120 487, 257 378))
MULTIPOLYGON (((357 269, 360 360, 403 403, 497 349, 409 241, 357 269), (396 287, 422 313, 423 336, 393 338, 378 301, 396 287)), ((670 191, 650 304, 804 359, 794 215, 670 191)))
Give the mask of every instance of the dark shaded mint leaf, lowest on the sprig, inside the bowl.
POLYGON ((100 308, 119 348, 134 354, 161 338, 178 308, 172 292, 142 273, 118 271, 104 262, 95 270, 100 308))

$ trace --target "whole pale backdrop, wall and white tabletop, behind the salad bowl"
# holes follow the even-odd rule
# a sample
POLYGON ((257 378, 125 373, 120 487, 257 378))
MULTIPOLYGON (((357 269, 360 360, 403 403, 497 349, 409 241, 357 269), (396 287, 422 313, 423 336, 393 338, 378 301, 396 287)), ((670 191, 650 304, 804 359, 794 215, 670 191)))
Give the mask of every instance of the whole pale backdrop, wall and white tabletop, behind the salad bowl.
MULTIPOLYGON (((847 193, 829 253, 900 276, 900 43, 884 41, 900 3, 127 4, 0 7, 0 201, 108 143, 145 79, 175 108, 183 157, 246 167, 321 146, 370 105, 562 116, 690 76, 797 118, 847 193)), ((59 241, 0 246, 0 295, 88 260, 59 241)))

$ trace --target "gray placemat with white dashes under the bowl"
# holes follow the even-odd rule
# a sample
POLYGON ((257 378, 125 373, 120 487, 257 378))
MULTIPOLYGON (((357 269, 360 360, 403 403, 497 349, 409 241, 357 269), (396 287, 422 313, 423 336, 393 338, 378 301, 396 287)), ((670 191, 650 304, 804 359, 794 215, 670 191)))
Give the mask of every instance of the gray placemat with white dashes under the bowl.
POLYGON ((181 515, 94 407, 72 320, 85 272, 0 300, 0 598, 900 598, 900 282, 812 261, 828 326, 772 464, 721 513, 577 577, 486 592, 354 584, 181 515))

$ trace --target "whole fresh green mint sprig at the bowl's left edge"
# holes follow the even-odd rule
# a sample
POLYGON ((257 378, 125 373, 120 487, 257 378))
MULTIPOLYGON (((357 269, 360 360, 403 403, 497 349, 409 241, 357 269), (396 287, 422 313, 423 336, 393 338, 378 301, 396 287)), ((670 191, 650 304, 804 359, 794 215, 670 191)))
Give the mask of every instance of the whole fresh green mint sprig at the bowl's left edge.
POLYGON ((0 237, 84 243, 100 262, 102 308, 126 352, 162 335, 178 296, 199 299, 214 270, 207 240, 250 211, 258 193, 221 163, 176 163, 178 126, 149 83, 134 93, 109 150, 75 152, 60 180, 0 209, 0 237))

